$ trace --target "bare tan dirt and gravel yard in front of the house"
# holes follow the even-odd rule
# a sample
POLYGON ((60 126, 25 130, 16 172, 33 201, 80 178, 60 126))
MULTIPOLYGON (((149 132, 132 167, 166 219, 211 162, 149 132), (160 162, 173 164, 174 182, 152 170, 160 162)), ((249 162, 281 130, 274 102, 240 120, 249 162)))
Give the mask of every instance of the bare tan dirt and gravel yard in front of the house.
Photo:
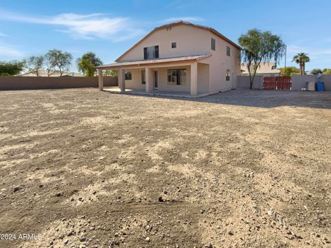
POLYGON ((0 247, 330 247, 331 92, 0 92, 0 178, 0 247))

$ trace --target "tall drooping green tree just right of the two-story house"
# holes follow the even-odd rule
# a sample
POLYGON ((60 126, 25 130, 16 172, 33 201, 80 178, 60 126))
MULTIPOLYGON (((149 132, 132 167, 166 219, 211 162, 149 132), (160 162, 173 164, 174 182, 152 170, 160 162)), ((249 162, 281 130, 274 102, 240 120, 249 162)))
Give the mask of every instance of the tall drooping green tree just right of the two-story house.
POLYGON ((273 60, 279 63, 285 52, 285 44, 278 35, 269 31, 261 32, 257 29, 248 30, 247 34, 241 34, 238 42, 243 48, 241 58, 248 65, 250 88, 252 89, 254 77, 261 62, 273 60))

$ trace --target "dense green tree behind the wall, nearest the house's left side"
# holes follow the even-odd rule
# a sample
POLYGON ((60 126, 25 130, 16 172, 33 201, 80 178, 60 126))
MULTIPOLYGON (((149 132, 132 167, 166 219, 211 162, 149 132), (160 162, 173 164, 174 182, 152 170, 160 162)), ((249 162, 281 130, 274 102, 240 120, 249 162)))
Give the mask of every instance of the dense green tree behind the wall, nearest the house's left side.
POLYGON ((77 59, 77 68, 79 72, 83 72, 86 76, 94 76, 95 67, 102 65, 101 59, 94 52, 86 52, 81 58, 77 59))

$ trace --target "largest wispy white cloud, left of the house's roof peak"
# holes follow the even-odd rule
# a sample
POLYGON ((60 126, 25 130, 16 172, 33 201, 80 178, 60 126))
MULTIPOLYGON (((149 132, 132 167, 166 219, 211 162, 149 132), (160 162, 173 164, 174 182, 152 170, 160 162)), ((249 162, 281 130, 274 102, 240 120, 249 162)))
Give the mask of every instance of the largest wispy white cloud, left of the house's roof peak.
POLYGON ((16 12, 0 10, 0 19, 55 25, 58 31, 66 32, 76 39, 112 39, 123 41, 143 33, 126 17, 107 17, 105 14, 63 13, 52 17, 30 17, 16 12))

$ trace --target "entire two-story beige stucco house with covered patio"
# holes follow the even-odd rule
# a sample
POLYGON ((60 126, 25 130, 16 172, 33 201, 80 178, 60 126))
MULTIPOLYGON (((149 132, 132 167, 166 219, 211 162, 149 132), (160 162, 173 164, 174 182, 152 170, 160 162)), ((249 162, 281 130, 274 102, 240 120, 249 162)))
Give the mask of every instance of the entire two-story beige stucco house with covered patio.
MULTIPOLYGON (((239 45, 217 30, 179 21, 154 28, 116 63, 97 68, 117 70, 122 91, 210 94, 234 87, 241 74, 240 52, 239 45)), ((99 84, 102 90, 102 73, 99 84)))

